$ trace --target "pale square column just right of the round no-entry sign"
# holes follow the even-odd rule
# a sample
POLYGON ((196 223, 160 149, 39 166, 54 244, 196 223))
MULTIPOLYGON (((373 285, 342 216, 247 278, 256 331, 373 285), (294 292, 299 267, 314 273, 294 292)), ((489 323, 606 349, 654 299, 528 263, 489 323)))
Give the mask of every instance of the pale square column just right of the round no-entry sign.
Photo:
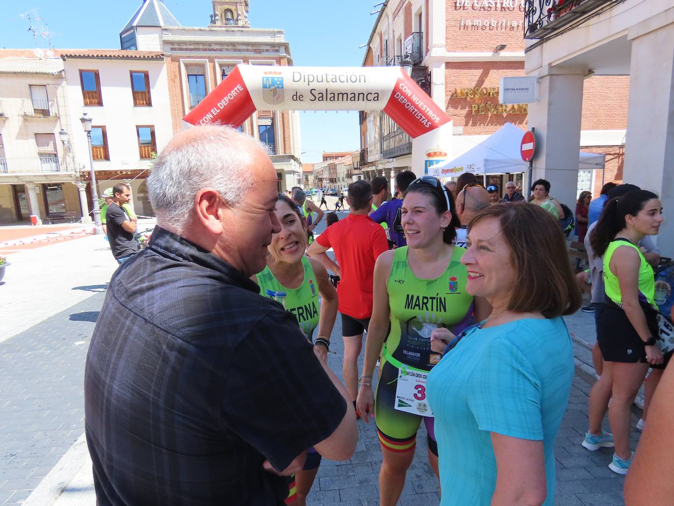
MULTIPOLYGON (((539 178, 550 181, 550 195, 572 209, 578 198, 580 119, 586 74, 583 67, 541 67, 537 75, 540 98, 529 105, 527 120, 529 128, 536 128, 533 181, 539 178)), ((526 181, 526 186, 530 188, 531 183, 526 181)), ((527 188, 523 190, 526 196, 527 188)))

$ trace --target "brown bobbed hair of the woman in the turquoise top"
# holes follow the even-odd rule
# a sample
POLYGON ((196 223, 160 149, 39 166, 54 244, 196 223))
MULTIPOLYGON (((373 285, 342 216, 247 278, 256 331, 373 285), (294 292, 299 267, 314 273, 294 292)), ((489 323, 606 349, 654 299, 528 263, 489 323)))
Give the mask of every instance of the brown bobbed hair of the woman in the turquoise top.
POLYGON ((499 221, 512 253, 516 277, 508 310, 540 312, 545 318, 576 312, 582 294, 558 221, 540 206, 515 202, 487 208, 470 222, 468 233, 490 218, 499 221))

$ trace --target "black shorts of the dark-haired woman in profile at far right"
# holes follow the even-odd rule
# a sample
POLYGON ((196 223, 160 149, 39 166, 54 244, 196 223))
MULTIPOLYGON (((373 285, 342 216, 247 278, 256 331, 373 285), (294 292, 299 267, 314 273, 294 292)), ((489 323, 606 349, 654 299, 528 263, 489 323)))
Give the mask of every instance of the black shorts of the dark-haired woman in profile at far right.
MULTIPOLYGON (((658 335, 657 312, 642 305, 646 314, 646 323, 651 335, 658 335)), ((627 314, 615 304, 607 303, 597 319, 596 340, 604 360, 608 362, 623 362, 625 364, 646 363, 646 347, 644 341, 632 327, 627 314)), ((651 366, 654 369, 664 369, 671 358, 671 353, 665 356, 663 364, 651 366)))

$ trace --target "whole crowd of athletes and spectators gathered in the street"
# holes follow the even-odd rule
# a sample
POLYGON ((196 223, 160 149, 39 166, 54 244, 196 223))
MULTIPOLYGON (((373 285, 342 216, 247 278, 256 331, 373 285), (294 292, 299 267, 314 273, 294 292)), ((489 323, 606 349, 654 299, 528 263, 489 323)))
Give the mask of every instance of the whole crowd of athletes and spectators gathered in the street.
MULTIPOLYGON (((348 215, 327 213, 313 237, 322 194, 319 206, 301 188, 278 194, 263 144, 220 126, 169 142, 148 178, 150 246, 116 254, 87 357, 98 505, 304 505, 321 458, 353 455, 358 418, 377 428, 383 506, 400 499, 422 422, 441 505, 553 505, 574 376, 562 316, 588 281, 601 375, 583 446, 615 445, 609 467, 634 468, 634 504, 665 497, 630 484, 667 476, 641 451, 632 463, 630 404, 649 367, 644 453, 662 455, 657 434, 671 443, 671 426, 650 422, 673 381, 647 241, 657 196, 614 185, 593 222, 581 194, 590 269, 577 275, 548 181, 530 203, 514 181, 499 198, 472 174, 395 182, 393 197, 385 177, 350 184, 348 215), (328 366, 338 313, 343 384, 328 366)), ((116 186, 111 206, 124 196, 116 186)), ((127 230, 127 215, 106 215, 127 230)))

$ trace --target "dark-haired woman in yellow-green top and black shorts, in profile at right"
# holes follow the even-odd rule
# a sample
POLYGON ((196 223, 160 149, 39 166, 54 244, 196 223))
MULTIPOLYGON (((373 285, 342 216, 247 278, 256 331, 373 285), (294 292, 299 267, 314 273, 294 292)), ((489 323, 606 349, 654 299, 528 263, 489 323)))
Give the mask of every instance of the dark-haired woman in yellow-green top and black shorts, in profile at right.
POLYGON ((632 463, 634 397, 648 367, 663 364, 653 270, 636 246, 644 235, 656 235, 661 223, 658 196, 634 190, 607 202, 590 235, 594 254, 603 257, 606 305, 597 318, 597 341, 604 368, 590 392, 590 427, 582 445, 590 451, 615 447, 609 469, 617 474, 627 474, 632 463), (613 434, 601 426, 607 405, 613 434))

